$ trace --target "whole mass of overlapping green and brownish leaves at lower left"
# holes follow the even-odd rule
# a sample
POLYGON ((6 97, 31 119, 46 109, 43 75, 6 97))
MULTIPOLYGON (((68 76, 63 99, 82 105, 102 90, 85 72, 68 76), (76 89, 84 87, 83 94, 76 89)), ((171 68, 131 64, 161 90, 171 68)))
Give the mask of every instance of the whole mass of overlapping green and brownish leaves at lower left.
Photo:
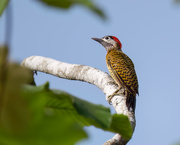
POLYGON ((64 91, 29 85, 32 72, 8 62, 0 48, 0 144, 72 145, 87 137, 84 126, 120 133, 130 139, 132 129, 124 115, 81 100, 64 91))

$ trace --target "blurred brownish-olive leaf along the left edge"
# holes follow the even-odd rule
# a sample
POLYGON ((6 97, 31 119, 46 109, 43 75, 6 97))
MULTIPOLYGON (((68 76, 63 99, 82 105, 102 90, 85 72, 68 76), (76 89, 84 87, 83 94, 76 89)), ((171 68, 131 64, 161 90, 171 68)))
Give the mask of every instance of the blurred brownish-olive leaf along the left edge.
POLYGON ((6 130, 20 131, 29 123, 28 108, 20 95, 20 89, 23 83, 32 79, 31 72, 8 62, 7 47, 0 47, 0 52, 0 126, 6 130), (22 108, 27 112, 21 111, 22 108), (19 124, 22 128, 18 127, 19 124))

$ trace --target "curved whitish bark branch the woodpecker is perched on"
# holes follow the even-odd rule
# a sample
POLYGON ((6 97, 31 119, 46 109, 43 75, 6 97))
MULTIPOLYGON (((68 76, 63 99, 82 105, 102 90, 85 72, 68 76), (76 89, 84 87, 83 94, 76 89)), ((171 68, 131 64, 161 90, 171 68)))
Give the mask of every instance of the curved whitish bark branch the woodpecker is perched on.
MULTIPOLYGON (((31 70, 48 73, 60 78, 94 84, 104 92, 107 101, 109 101, 108 96, 112 95, 118 89, 114 80, 107 73, 89 66, 68 64, 42 56, 28 57, 23 60, 21 65, 31 70)), ((117 114, 128 116, 134 130, 136 124, 135 114, 132 111, 128 111, 125 96, 116 95, 112 98, 111 102, 117 114)), ((104 145, 125 145, 127 142, 119 134, 116 134, 112 139, 104 143, 104 145)))

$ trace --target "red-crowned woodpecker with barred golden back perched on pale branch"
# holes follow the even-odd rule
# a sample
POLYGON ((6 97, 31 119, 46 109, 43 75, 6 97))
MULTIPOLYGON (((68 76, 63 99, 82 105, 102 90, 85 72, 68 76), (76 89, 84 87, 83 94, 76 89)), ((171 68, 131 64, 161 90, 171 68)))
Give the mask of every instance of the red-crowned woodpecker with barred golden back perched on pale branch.
MULTIPOLYGON (((119 86, 119 89, 121 87, 124 89, 128 110, 132 108, 132 110, 135 111, 136 94, 139 95, 139 92, 138 79, 132 60, 122 52, 122 44, 115 36, 92 39, 105 47, 107 51, 106 64, 110 75, 119 86)), ((112 97, 117 94, 117 92, 118 91, 114 92, 112 97)))

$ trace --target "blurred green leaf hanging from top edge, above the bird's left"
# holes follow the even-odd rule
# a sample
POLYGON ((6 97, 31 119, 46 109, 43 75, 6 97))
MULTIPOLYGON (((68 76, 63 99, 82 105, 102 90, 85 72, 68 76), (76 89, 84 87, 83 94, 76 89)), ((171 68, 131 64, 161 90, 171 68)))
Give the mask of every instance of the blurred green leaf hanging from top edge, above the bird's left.
POLYGON ((99 7, 97 7, 91 0, 39 0, 39 1, 46 5, 61 9, 69 9, 70 7, 76 4, 81 5, 83 7, 90 9, 92 12, 96 13, 101 18, 103 19, 106 18, 104 12, 99 7))

